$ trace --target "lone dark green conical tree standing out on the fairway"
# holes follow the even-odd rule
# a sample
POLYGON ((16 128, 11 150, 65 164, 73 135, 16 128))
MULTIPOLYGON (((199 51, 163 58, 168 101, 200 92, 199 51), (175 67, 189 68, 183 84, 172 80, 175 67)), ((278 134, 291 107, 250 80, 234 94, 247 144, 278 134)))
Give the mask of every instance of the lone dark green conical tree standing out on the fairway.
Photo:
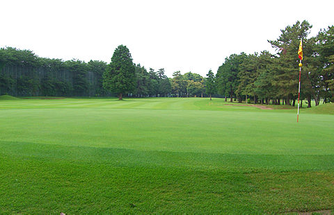
POLYGON ((135 80, 135 67, 129 49, 120 45, 103 74, 103 87, 122 99, 122 94, 134 91, 135 80))

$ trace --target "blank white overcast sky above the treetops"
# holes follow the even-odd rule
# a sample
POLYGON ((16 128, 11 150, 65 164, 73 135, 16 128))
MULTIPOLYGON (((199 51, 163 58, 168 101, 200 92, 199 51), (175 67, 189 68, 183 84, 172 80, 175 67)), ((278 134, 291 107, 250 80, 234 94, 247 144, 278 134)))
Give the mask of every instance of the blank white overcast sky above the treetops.
POLYGON ((205 76, 232 53, 273 51, 267 40, 297 20, 308 20, 317 35, 334 24, 333 8, 333 0, 0 0, 0 47, 109 63, 124 44, 146 69, 205 76))

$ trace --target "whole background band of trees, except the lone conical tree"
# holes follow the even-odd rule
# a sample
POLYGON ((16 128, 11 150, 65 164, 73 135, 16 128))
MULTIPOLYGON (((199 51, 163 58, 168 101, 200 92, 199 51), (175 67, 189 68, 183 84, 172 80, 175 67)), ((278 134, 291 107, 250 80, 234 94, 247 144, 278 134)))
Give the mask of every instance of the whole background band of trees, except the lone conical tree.
MULTIPOLYGON (((294 105, 298 97, 299 58, 303 39, 301 99, 334 102, 334 26, 310 37, 312 26, 296 22, 281 30, 277 40, 268 40, 275 53, 232 54, 216 75, 207 77, 180 71, 168 78, 164 68, 134 65, 134 88, 127 96, 223 96, 230 101, 294 105)), ((0 49, 0 94, 13 96, 113 96, 103 86, 108 64, 40 58, 29 50, 0 49)))

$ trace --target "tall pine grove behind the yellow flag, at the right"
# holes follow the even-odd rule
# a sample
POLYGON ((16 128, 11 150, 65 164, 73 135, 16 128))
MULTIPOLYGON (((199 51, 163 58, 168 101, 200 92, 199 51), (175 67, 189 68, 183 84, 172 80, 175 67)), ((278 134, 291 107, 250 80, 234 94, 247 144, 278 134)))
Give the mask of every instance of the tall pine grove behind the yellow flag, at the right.
POLYGON ((230 101, 295 105, 299 87, 297 52, 303 39, 301 99, 307 99, 308 107, 312 99, 316 105, 320 98, 324 103, 334 102, 334 27, 308 37, 311 28, 303 21, 281 30, 277 40, 268 40, 276 53, 240 53, 225 58, 216 74, 218 94, 230 101))

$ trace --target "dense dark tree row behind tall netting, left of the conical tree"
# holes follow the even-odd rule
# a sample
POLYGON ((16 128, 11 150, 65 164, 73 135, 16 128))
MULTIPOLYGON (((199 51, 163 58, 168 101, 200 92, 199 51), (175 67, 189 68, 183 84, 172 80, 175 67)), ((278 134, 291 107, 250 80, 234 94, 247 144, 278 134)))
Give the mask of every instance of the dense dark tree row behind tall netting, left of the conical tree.
POLYGON ((39 58, 29 50, 0 49, 0 94, 102 96, 102 61, 39 58))

